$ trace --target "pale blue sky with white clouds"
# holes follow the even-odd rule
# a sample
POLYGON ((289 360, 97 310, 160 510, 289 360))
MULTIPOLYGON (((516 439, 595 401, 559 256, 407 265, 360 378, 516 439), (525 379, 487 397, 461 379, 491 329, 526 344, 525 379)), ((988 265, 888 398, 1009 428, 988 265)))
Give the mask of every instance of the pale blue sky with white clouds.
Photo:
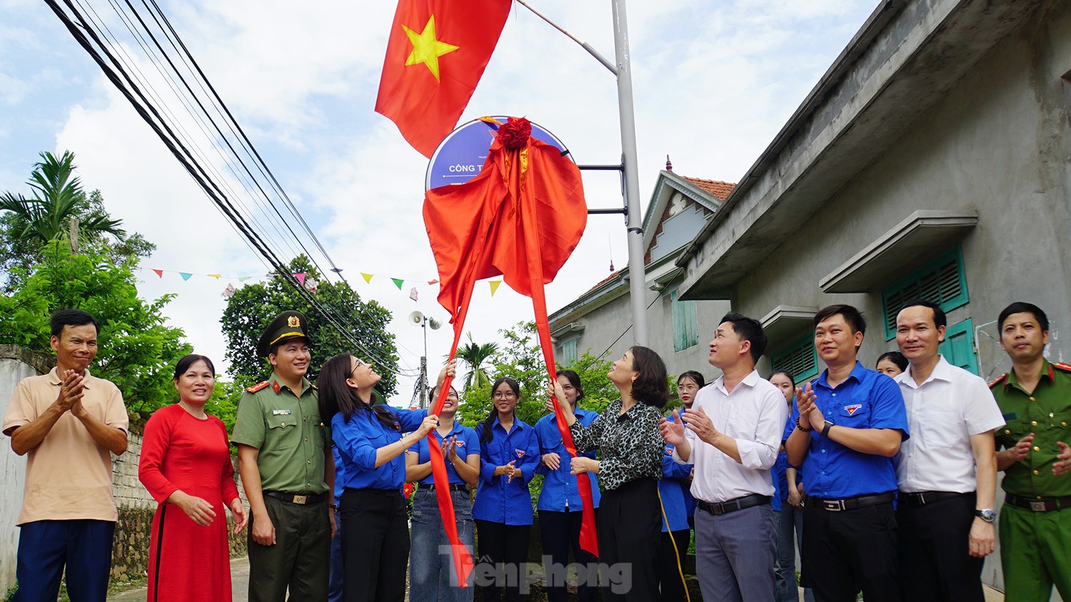
MULTIPOLYGON (((609 2, 529 3, 613 60, 609 2)), ((108 2, 82 4, 121 29, 108 2)), ((402 366, 419 366, 421 331, 406 317, 420 310, 446 318, 446 311, 435 300, 437 289, 424 283, 437 276, 421 217, 427 159, 374 112, 394 3, 159 4, 353 288, 394 313, 390 328, 402 366), (379 276, 366 283, 360 273, 379 276), (406 279, 405 291, 388 276, 406 279), (418 285, 418 302, 408 298, 411 285, 418 285)), ((678 174, 739 180, 875 5, 629 2, 644 210, 666 155, 678 174)), ((136 60, 153 77, 150 60, 136 60)), ((485 114, 528 117, 560 138, 579 164, 620 158, 613 75, 517 3, 462 122, 485 114)), ((196 127, 188 117, 181 119, 196 127)), ((111 215, 156 244, 142 263, 140 294, 175 293, 165 309, 171 323, 198 353, 222 360, 221 293, 228 282, 240 285, 226 276, 262 275, 263 263, 48 5, 0 0, 0 190, 28 194, 25 182, 37 154, 64 150, 76 154, 84 186, 103 192, 111 215), (171 273, 157 278, 150 268, 171 273), (225 278, 183 281, 175 272, 225 278)), ((621 205, 616 174, 584 177, 589 206, 621 205)), ((291 248, 269 233, 281 249, 291 248)), ((547 287, 550 311, 607 276, 612 260, 618 268, 628 263, 623 219, 591 216, 573 257, 547 287)), ((499 328, 530 320, 531 311, 527 297, 504 285, 492 297, 481 282, 466 330, 479 342, 496 341, 499 328)), ((448 328, 428 331, 431 364, 449 344, 448 328)), ((402 379, 394 401, 408 401, 411 387, 411 380, 402 379)))

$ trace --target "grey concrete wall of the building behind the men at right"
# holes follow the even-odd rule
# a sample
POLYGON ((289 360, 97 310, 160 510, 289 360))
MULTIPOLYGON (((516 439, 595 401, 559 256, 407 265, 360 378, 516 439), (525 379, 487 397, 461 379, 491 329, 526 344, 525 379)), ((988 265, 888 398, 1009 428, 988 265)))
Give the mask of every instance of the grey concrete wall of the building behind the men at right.
MULTIPOLYGON (((980 372, 995 377, 1010 364, 992 322, 1011 302, 1036 303, 1052 322, 1050 358, 1071 359, 1071 93, 1061 79, 1069 72, 1071 10, 1051 3, 903 137, 874 140, 886 151, 799 223, 804 235, 785 241, 738 283, 734 309, 763 315, 781 304, 853 304, 871 323, 860 359, 873 366, 895 349, 885 340, 879 289, 824 294, 819 279, 915 211, 977 210, 978 226, 962 241, 970 302, 950 312, 949 324, 972 319, 980 372)), ((1002 586, 997 554, 986 559, 983 578, 1002 586)))

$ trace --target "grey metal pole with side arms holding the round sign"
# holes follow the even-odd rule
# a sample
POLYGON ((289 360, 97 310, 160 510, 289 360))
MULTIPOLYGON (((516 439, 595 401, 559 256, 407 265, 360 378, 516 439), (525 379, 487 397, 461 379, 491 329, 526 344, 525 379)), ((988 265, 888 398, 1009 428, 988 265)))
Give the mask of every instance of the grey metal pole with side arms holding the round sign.
MULTIPOLYGON (((613 65, 587 42, 574 35, 532 9, 524 0, 518 4, 531 11, 552 27, 569 36, 587 50, 617 77, 617 106, 621 122, 621 166, 592 166, 591 169, 620 169, 624 184, 624 212, 627 241, 629 243, 629 300, 632 307, 632 336, 637 345, 647 346, 647 288, 644 272, 644 229, 639 215, 639 176, 636 166, 636 115, 632 106, 632 65, 629 53, 629 21, 624 0, 610 0, 614 12, 614 50, 617 65, 613 65)), ((579 166, 584 169, 585 166, 579 166)), ((592 210, 588 213, 622 213, 621 210, 592 210)))

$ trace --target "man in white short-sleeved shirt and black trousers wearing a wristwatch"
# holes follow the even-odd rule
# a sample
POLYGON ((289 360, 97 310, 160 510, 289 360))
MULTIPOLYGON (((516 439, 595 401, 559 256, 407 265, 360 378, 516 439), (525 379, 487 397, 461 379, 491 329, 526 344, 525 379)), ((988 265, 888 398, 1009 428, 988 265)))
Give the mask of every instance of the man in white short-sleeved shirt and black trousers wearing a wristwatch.
POLYGON ((896 456, 897 559, 904 600, 982 602, 982 561, 993 552, 996 450, 1004 425, 985 381, 938 353, 945 312, 911 300, 896 315, 910 365, 895 377, 911 438, 896 456))

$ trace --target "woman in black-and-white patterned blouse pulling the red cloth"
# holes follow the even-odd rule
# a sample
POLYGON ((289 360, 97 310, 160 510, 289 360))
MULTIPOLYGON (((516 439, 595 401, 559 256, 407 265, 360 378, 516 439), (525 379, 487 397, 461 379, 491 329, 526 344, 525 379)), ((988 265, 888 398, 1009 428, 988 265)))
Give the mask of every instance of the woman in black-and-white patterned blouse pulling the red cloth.
POLYGON ((662 515, 658 480, 664 447, 659 421, 669 399, 666 366, 659 354, 637 345, 614 362, 607 376, 617 385, 621 399, 588 427, 573 416, 557 383, 555 395, 576 450, 599 448, 599 460, 573 458, 572 473, 597 474, 603 488, 599 562, 609 567, 610 577, 602 578, 603 600, 649 602, 659 598, 662 515))

